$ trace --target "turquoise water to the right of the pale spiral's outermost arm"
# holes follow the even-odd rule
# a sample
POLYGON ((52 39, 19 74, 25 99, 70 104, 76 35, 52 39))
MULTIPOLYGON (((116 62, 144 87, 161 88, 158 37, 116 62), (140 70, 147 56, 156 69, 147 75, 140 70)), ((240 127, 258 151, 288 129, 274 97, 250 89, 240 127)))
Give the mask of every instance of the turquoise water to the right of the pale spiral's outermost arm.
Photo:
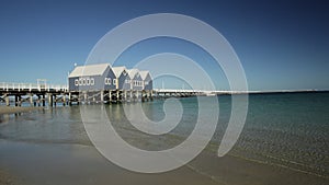
POLYGON ((328 176, 329 93, 251 95, 247 123, 235 151, 246 158, 328 176))

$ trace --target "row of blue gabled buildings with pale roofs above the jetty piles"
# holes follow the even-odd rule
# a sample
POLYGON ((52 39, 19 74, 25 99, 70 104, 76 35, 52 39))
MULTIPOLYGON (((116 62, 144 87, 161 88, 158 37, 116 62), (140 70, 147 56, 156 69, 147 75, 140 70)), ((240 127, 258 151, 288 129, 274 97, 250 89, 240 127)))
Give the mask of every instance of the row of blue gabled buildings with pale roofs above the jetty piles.
POLYGON ((111 67, 109 63, 77 66, 68 77, 71 102, 131 102, 152 99, 152 79, 148 71, 111 67), (143 79, 144 77, 144 79, 143 79))

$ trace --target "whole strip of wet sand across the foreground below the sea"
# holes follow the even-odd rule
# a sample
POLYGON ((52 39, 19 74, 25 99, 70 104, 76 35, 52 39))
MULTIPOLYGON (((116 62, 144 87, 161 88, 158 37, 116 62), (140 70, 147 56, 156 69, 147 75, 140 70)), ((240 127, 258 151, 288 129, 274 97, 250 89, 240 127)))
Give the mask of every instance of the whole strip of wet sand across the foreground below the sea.
POLYGON ((0 140, 0 167, 24 185, 37 184, 189 184, 189 185, 324 185, 329 180, 292 169, 226 155, 211 150, 178 170, 140 174, 104 159, 92 146, 0 140))

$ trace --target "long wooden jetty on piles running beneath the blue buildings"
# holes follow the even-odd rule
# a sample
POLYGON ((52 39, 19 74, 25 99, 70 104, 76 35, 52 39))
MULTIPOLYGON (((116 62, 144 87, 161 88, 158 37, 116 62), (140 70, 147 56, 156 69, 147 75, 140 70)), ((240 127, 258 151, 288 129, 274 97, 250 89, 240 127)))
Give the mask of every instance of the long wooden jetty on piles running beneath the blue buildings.
POLYGON ((146 102, 154 99, 188 97, 205 95, 194 90, 104 90, 104 91, 69 91, 67 85, 46 83, 0 82, 0 102, 7 106, 56 106, 93 103, 146 102))

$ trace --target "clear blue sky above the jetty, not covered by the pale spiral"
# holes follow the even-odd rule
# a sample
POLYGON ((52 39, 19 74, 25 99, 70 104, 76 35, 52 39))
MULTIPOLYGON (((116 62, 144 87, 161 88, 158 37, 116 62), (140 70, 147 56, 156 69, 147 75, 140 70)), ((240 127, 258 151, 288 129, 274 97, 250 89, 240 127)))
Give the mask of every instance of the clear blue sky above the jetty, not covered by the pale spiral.
MULTIPOLYGON (((328 4, 314 0, 2 0, 0 82, 45 78, 52 83, 66 83, 73 63, 83 65, 92 47, 110 30, 136 16, 166 12, 194 16, 219 31, 239 56, 250 90, 329 89, 328 4)), ((175 49, 201 65, 208 60, 202 49, 180 41, 150 39, 138 45, 127 50, 121 61, 137 62, 148 55, 175 49)), ((117 65, 124 63, 121 61, 117 65)), ((217 89, 226 89, 219 69, 212 65, 204 68, 209 70, 217 89)))

